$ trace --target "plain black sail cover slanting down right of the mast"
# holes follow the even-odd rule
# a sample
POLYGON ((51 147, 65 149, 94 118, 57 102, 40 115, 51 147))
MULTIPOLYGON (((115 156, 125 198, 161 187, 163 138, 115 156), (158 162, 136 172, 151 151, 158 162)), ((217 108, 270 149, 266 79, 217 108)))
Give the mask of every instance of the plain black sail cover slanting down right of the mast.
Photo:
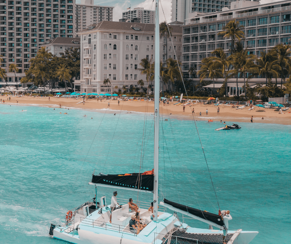
POLYGON ((193 207, 188 207, 188 206, 185 206, 185 205, 182 205, 182 204, 179 204, 179 203, 174 203, 174 202, 171 202, 167 199, 164 198, 164 203, 168 204, 168 205, 171 205, 172 207, 175 207, 175 208, 178 208, 182 211, 185 211, 185 212, 188 212, 190 214, 193 214, 199 218, 202 218, 204 220, 208 220, 208 221, 211 221, 212 223, 215 223, 215 224, 218 224, 220 226, 223 226, 224 223, 223 223, 223 220, 222 220, 222 217, 220 215, 217 215, 217 214, 213 214, 213 213, 210 213, 210 212, 205 212, 205 211, 202 211, 202 210, 199 210, 199 209, 196 209, 196 208, 193 208, 193 207))

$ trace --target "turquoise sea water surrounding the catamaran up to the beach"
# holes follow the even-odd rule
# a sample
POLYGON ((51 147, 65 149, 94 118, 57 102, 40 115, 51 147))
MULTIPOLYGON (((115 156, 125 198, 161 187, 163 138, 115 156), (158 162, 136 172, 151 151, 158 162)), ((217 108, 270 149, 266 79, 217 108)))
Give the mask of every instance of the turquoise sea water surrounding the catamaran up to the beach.
MULTIPOLYGON (((69 209, 94 197, 95 188, 88 182, 95 167, 95 174, 153 168, 152 115, 60 111, 65 112, 0 104, 1 243, 66 243, 48 236, 50 223, 64 223, 69 209)), ((164 119, 159 195, 217 213, 194 122, 164 119)), ((219 206, 231 211, 229 228, 259 231, 253 244, 289 243, 291 126, 239 123, 241 130, 215 131, 220 123, 197 125, 219 206)), ((97 197, 106 195, 110 204, 112 191, 99 187, 97 197)), ((137 193, 118 190, 118 197, 136 200, 137 193)), ((152 201, 151 194, 138 197, 152 201)))

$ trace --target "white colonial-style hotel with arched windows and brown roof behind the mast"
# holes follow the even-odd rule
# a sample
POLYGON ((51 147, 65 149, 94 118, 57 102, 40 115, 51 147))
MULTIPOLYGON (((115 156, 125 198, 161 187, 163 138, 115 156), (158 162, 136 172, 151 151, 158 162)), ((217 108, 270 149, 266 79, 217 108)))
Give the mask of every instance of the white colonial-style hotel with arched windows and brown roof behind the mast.
MULTIPOLYGON (((172 26, 172 39, 160 39, 160 59, 181 61, 182 27, 172 26)), ((78 33, 81 37, 81 75, 75 81, 83 93, 112 93, 138 87, 141 59, 154 61, 154 24, 102 21, 78 33), (111 84, 104 85, 109 79, 111 84)), ((164 63, 165 65, 165 63, 164 63)), ((79 88, 79 87, 77 87, 79 88)))

